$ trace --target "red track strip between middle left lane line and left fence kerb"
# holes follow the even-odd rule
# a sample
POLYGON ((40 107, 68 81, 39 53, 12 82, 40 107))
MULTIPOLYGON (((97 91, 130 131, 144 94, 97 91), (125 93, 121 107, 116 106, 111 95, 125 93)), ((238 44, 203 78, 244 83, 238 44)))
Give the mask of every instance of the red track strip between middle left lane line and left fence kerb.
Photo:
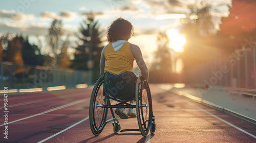
MULTIPOLYGON (((90 89, 89 89, 90 90, 90 89)), ((46 92, 46 97, 44 99, 37 100, 35 98, 33 99, 27 99, 25 97, 24 100, 19 100, 19 103, 16 102, 16 104, 12 104, 12 99, 8 99, 8 111, 9 111, 9 122, 18 120, 20 117, 16 116, 15 114, 25 114, 25 115, 33 115, 36 113, 44 112, 46 110, 50 110, 52 108, 56 108, 58 106, 69 104, 76 100, 83 100, 84 98, 90 98, 91 93, 84 92, 86 90, 80 90, 80 92, 71 92, 69 93, 66 91, 54 91, 49 94, 49 92, 46 92), (49 95, 51 97, 49 97, 49 95), (33 103, 33 101, 36 101, 33 103), (38 102, 40 101, 40 102, 38 102), (45 101, 45 102, 44 102, 45 101), (15 107, 18 106, 18 107, 15 107), (13 116, 15 115, 15 116, 13 116), (13 117, 12 117, 13 116, 13 117)), ((39 93, 41 94, 41 93, 39 93)), ((24 95, 23 95, 24 96, 24 95)), ((31 94, 28 94, 29 97, 31 97, 31 94)), ((33 94, 35 96, 35 94, 33 94)), ((18 98, 18 97, 14 97, 18 98)), ((3 104, 2 104, 3 105, 3 104)), ((0 109, 3 109, 3 106, 0 107, 0 109)), ((3 115, 3 112, 0 113, 0 115, 3 115)), ((23 116, 25 117, 25 116, 23 116)), ((4 118, 1 116, 0 121, 2 121, 4 118)))

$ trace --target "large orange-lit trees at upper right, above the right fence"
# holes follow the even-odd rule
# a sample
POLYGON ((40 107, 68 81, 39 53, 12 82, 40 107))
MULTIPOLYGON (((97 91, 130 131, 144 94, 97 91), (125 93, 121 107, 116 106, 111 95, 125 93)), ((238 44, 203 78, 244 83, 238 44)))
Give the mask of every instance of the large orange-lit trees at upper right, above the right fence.
MULTIPOLYGON (((232 3, 234 4, 235 2, 239 1, 233 1, 232 3)), ((255 1, 251 0, 240 2, 243 2, 244 4, 248 3, 248 5, 254 3, 255 5, 255 1)), ((235 18, 232 18, 234 15, 240 14, 241 17, 247 16, 245 13, 241 12, 243 7, 240 6, 231 7, 230 10, 233 8, 233 11, 230 11, 229 17, 223 17, 221 19, 220 29, 216 33, 212 34, 211 32, 212 29, 215 28, 215 25, 213 20, 211 20, 213 16, 209 12, 210 8, 211 6, 208 5, 205 5, 201 9, 191 7, 191 13, 198 17, 192 20, 189 19, 189 22, 184 22, 180 28, 181 33, 185 35, 186 38, 184 52, 180 54, 180 57, 184 62, 183 76, 187 81, 190 81, 189 79, 195 79, 195 77, 191 76, 191 70, 196 69, 203 63, 230 56, 232 53, 244 48, 243 46, 249 46, 245 39, 255 40, 256 38, 255 27, 251 28, 250 31, 243 31, 236 35, 230 34, 230 31, 224 29, 228 26, 231 27, 232 25, 241 23, 242 19, 240 19, 240 17, 236 19, 237 21, 234 20, 235 18), (222 27, 223 25, 226 27, 222 27)), ((241 27, 243 27, 243 25, 241 25, 241 27)), ((231 31, 237 31, 237 29, 233 29, 231 31)), ((200 73, 198 75, 200 76, 200 73)))

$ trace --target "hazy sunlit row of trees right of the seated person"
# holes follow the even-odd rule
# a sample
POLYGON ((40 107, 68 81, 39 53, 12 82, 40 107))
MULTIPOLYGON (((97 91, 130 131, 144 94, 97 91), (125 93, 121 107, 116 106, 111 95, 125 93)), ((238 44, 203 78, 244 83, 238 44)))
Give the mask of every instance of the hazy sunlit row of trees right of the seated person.
MULTIPOLYGON (((154 63, 150 68, 150 82, 185 83, 193 81, 196 79, 196 75, 193 77, 193 75, 191 75, 191 71, 197 69, 200 65, 230 56, 236 51, 241 51, 246 48, 248 49, 248 46, 251 46, 250 44, 252 43, 247 43, 246 40, 252 40, 255 43, 255 24, 254 26, 250 26, 250 31, 243 31, 236 35, 229 34, 230 31, 225 29, 232 24, 237 24, 233 22, 241 22, 242 19, 240 20, 240 18, 247 17, 248 15, 246 14, 250 14, 250 12, 240 12, 242 7, 236 6, 233 8, 233 11, 230 11, 229 17, 218 17, 222 19, 219 23, 220 29, 216 29, 216 25, 214 23, 216 21, 212 20, 214 16, 210 14, 211 6, 207 5, 205 2, 206 1, 202 1, 200 8, 195 5, 189 6, 190 13, 186 18, 180 20, 181 25, 177 28, 180 31, 180 34, 184 35, 186 39, 186 43, 183 46, 184 52, 177 54, 183 61, 184 67, 182 74, 175 74, 171 69, 168 69, 175 64, 170 63, 174 57, 170 54, 172 52, 170 52, 170 48, 167 45, 169 42, 167 36, 165 33, 160 32, 157 36, 158 48, 155 52, 154 63), (238 10, 240 11, 237 12, 238 10), (234 17, 236 14, 240 14, 241 16, 239 16, 239 18, 237 17, 236 19, 232 19, 231 17, 234 17), (222 27, 223 25, 225 27, 222 27)), ((255 1, 253 0, 233 0, 232 3, 235 2, 255 5, 255 1)), ((249 19, 247 20, 249 21, 249 19)), ((241 28, 242 27, 243 25, 241 25, 241 28)), ((237 29, 233 29, 233 31, 237 31, 237 29)), ((252 52, 252 50, 250 52, 252 52)), ((197 76, 201 76, 202 73, 204 73, 204 71, 199 72, 197 76)))

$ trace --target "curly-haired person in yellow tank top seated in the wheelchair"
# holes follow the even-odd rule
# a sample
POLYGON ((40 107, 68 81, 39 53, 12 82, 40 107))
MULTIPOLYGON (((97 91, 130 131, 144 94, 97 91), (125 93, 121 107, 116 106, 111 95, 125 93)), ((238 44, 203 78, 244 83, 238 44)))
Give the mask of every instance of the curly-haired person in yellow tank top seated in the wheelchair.
MULTIPOLYGON (((104 75, 104 81, 109 81, 110 85, 106 86, 105 89, 112 96, 121 100, 135 96, 136 77, 141 75, 144 80, 148 80, 148 70, 140 47, 128 42, 131 36, 134 36, 134 27, 131 22, 117 18, 108 27, 107 40, 109 44, 103 48, 100 59, 100 75, 104 75), (134 60, 140 69, 132 69, 134 60), (118 85, 127 83, 131 87, 125 86, 123 89, 118 89, 118 85), (111 84, 117 86, 112 87, 111 84)), ((134 100, 130 104, 135 105, 134 100)), ((115 113, 122 119, 136 117, 136 108, 129 108, 128 113, 124 108, 117 108, 115 113)))

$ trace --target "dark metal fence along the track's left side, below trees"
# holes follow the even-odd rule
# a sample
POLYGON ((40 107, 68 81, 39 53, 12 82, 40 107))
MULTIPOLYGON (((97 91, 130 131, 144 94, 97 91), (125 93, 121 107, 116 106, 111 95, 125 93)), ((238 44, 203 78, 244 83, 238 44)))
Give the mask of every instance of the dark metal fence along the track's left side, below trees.
POLYGON ((51 66, 26 66, 0 61, 0 90, 47 88, 51 86, 76 87, 89 83, 88 71, 57 69, 51 66))

